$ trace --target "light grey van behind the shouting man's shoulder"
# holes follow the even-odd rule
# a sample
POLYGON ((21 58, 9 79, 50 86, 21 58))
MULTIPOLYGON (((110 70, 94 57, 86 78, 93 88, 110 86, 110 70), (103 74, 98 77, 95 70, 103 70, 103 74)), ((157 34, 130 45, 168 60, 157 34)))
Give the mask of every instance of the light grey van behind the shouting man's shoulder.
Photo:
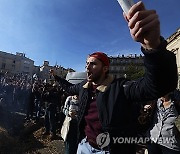
POLYGON ((66 80, 72 84, 78 84, 87 78, 86 72, 68 72, 66 80))

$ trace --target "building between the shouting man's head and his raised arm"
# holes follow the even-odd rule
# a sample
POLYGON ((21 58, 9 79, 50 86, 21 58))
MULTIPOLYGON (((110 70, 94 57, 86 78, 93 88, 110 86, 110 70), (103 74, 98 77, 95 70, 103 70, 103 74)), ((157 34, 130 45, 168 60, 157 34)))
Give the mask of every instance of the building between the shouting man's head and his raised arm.
POLYGON ((110 58, 110 69, 109 73, 119 77, 126 77, 126 71, 131 65, 133 65, 137 70, 144 69, 143 66, 143 56, 142 55, 132 55, 129 56, 117 56, 110 58))

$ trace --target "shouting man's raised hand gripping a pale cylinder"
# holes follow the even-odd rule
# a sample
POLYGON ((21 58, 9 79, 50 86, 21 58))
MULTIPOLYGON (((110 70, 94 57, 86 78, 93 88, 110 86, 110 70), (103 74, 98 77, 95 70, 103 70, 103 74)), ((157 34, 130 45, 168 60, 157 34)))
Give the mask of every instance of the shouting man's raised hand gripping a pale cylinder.
POLYGON ((132 38, 145 49, 156 49, 160 44, 160 22, 155 10, 146 10, 140 1, 134 4, 127 16, 132 38))

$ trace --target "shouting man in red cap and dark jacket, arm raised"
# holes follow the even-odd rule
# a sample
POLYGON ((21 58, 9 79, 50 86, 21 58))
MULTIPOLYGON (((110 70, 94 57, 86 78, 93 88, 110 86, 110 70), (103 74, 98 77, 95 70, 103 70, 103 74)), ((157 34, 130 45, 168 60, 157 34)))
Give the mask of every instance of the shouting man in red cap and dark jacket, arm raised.
POLYGON ((166 41, 160 37, 156 11, 146 10, 138 2, 124 16, 132 38, 141 43, 144 77, 134 81, 114 79, 109 75, 108 56, 102 52, 89 55, 87 80, 79 84, 72 85, 50 71, 65 91, 79 96, 77 154, 134 154, 134 144, 113 142, 113 137, 136 135, 132 102, 157 99, 177 86, 176 58, 166 50, 166 41), (106 136, 106 142, 101 136, 106 136))

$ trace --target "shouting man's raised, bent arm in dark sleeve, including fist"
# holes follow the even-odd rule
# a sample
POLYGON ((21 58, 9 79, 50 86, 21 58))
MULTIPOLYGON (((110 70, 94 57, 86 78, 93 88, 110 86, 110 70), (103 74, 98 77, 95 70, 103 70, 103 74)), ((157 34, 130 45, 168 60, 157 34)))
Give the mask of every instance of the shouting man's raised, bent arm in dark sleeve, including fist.
POLYGON ((144 53, 145 75, 126 82, 125 95, 131 100, 153 100, 177 86, 175 55, 166 50, 166 41, 160 37, 160 22, 154 10, 146 10, 142 2, 131 7, 127 16, 132 38, 141 43, 144 53))

